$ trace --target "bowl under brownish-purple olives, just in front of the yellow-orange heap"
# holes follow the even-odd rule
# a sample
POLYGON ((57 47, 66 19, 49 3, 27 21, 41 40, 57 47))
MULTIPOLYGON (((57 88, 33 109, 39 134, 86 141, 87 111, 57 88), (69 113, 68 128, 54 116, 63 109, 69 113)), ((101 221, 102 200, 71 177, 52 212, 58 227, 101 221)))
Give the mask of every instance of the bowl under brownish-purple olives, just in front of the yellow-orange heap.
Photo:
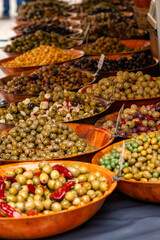
MULTIPOLYGON (((76 71, 91 74, 88 71, 83 71, 83 70, 80 70, 80 69, 76 69, 76 71)), ((26 74, 27 73, 30 74, 31 72, 33 72, 33 71, 25 71, 26 74)), ((0 95, 8 103, 23 101, 26 98, 31 98, 31 97, 35 97, 35 96, 39 95, 39 94, 35 94, 35 95, 14 94, 14 93, 8 93, 8 92, 3 90, 3 87, 7 84, 8 81, 11 81, 14 77, 18 77, 20 75, 21 75, 21 73, 15 73, 15 74, 12 74, 12 75, 9 75, 9 76, 6 76, 6 77, 3 77, 3 78, 0 79, 0 95)), ((87 82, 86 78, 82 78, 83 85, 93 84, 95 81, 96 81, 96 78, 93 75, 91 77, 90 82, 87 82)), ((80 88, 69 89, 69 91, 78 91, 79 89, 80 88)))

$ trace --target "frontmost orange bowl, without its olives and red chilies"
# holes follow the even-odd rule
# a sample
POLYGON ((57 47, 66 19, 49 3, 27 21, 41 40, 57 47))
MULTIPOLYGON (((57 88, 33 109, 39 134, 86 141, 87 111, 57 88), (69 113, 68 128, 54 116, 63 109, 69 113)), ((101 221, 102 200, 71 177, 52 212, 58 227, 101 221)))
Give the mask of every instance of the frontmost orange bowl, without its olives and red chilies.
MULTIPOLYGON (((57 163, 54 161, 50 162, 57 163)), ((74 166, 77 162, 72 161, 60 161, 74 166)), ((113 173, 103 169, 97 165, 80 162, 83 166, 86 166, 90 172, 99 171, 102 176, 108 179, 109 190, 100 197, 97 201, 89 202, 82 207, 76 207, 70 210, 63 210, 48 215, 37 215, 21 218, 3 218, 0 217, 0 238, 3 239, 40 239, 60 233, 67 232, 73 228, 78 227, 84 222, 88 221, 93 215, 100 209, 104 203, 106 197, 108 197, 116 188, 117 182, 111 183, 113 173), (76 220, 76 221, 74 221, 76 220), (58 224, 57 224, 58 223, 58 224)), ((4 175, 4 172, 8 169, 15 169, 16 167, 24 167, 26 169, 34 169, 38 167, 38 163, 17 163, 9 164, 0 167, 0 175, 4 175)))

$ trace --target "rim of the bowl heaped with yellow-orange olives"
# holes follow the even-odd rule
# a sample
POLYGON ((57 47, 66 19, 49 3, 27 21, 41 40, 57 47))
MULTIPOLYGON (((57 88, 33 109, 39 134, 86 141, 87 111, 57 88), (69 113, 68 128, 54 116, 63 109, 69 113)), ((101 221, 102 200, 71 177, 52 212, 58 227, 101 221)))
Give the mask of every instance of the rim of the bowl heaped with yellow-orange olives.
MULTIPOLYGON (((59 64, 62 64, 62 63, 67 63, 67 62, 71 62, 71 61, 74 61, 74 60, 76 60, 76 59, 79 59, 79 58, 82 58, 83 56, 84 56, 84 51, 81 51, 81 50, 76 50, 76 49, 74 49, 74 48, 71 48, 71 49, 62 49, 62 50, 64 50, 64 51, 66 51, 66 52, 70 52, 70 53, 73 53, 74 54, 74 52, 77 52, 77 53, 75 53, 75 55, 78 55, 78 56, 76 56, 75 58, 73 58, 73 59, 70 59, 70 60, 66 60, 66 61, 63 61, 63 62, 57 62, 57 63, 53 63, 53 64, 55 64, 55 65, 59 65, 59 64)), ((12 61, 13 59, 15 59, 16 57, 19 57, 19 56, 21 56, 21 55, 23 55, 23 53, 22 54, 17 54, 17 55, 14 55, 14 56, 11 56, 11 57, 7 57, 7 58, 3 58, 2 60, 0 60, 0 69, 8 69, 8 70, 16 70, 16 69, 23 69, 23 71, 27 71, 27 69, 35 69, 35 68, 40 68, 40 67, 43 67, 43 66, 47 66, 47 65, 49 65, 49 64, 51 64, 51 63, 49 63, 49 64, 46 64, 46 65, 32 65, 32 66, 28 66, 28 67, 22 67, 22 66, 20 66, 20 67, 4 67, 4 66, 2 66, 2 63, 6 63, 6 62, 9 62, 9 61, 12 61), (25 70, 26 69, 26 70, 25 70)), ((22 71, 22 72, 23 72, 22 71)))

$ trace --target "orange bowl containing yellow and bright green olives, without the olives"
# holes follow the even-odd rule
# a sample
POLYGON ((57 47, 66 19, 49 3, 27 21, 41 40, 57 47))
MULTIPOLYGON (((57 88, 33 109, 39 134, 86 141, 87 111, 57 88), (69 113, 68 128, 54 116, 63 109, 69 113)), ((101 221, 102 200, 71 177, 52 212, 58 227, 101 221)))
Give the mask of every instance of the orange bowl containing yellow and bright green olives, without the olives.
MULTIPOLYGON (((125 142, 130 141, 125 140, 125 142)), ((110 152, 114 146, 122 145, 123 141, 114 143, 107 148, 101 150, 92 158, 92 163, 100 165, 99 159, 110 152)), ((117 189, 132 197, 142 201, 160 203, 160 182, 140 182, 121 179, 118 182, 117 189)))

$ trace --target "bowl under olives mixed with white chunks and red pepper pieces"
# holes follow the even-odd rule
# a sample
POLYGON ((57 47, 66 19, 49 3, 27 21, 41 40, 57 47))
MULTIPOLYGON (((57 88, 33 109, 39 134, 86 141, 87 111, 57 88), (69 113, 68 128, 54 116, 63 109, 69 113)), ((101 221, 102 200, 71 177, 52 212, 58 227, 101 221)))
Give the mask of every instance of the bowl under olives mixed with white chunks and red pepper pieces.
MULTIPOLYGON (((29 95, 29 97, 31 97, 31 96, 29 95)), ((91 97, 91 98, 95 99, 95 100, 99 100, 103 104, 103 106, 105 106, 105 110, 103 112, 100 112, 91 117, 82 118, 82 119, 78 119, 78 120, 74 120, 74 121, 68 121, 66 123, 82 123, 82 124, 94 125, 95 122, 99 118, 102 118, 103 116, 105 116, 107 114, 109 108, 111 107, 111 103, 108 103, 108 101, 101 99, 101 98, 96 98, 96 97, 91 97)), ((7 109, 8 107, 9 107, 9 104, 3 106, 3 108, 5 108, 5 109, 7 109)), ((0 123, 0 131, 5 130, 5 129, 10 129, 14 126, 15 126, 14 124, 0 123)))

